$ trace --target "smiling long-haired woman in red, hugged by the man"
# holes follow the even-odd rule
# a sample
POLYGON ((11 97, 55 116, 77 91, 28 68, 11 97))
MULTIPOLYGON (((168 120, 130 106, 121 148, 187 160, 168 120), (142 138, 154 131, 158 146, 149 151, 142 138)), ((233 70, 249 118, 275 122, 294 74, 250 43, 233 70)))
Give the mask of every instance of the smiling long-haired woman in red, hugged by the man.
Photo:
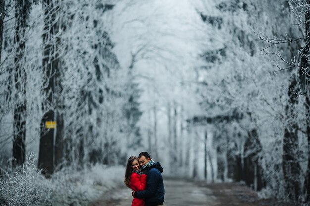
MULTIPOLYGON (((127 161, 125 172, 125 185, 134 191, 145 189, 147 175, 142 174, 138 157, 131 156, 127 161)), ((131 206, 144 206, 143 199, 134 198, 131 206)))

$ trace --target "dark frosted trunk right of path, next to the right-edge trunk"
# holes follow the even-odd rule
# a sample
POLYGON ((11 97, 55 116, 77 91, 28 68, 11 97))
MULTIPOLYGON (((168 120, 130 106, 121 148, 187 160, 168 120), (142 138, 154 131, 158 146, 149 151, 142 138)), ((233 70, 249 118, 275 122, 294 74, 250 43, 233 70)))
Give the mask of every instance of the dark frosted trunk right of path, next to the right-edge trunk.
POLYGON ((290 82, 288 91, 289 102, 285 109, 287 125, 284 130, 282 169, 286 195, 292 200, 298 200, 300 195, 300 166, 298 162, 298 125, 295 115, 297 96, 291 91, 297 87, 295 75, 292 76, 290 82))

